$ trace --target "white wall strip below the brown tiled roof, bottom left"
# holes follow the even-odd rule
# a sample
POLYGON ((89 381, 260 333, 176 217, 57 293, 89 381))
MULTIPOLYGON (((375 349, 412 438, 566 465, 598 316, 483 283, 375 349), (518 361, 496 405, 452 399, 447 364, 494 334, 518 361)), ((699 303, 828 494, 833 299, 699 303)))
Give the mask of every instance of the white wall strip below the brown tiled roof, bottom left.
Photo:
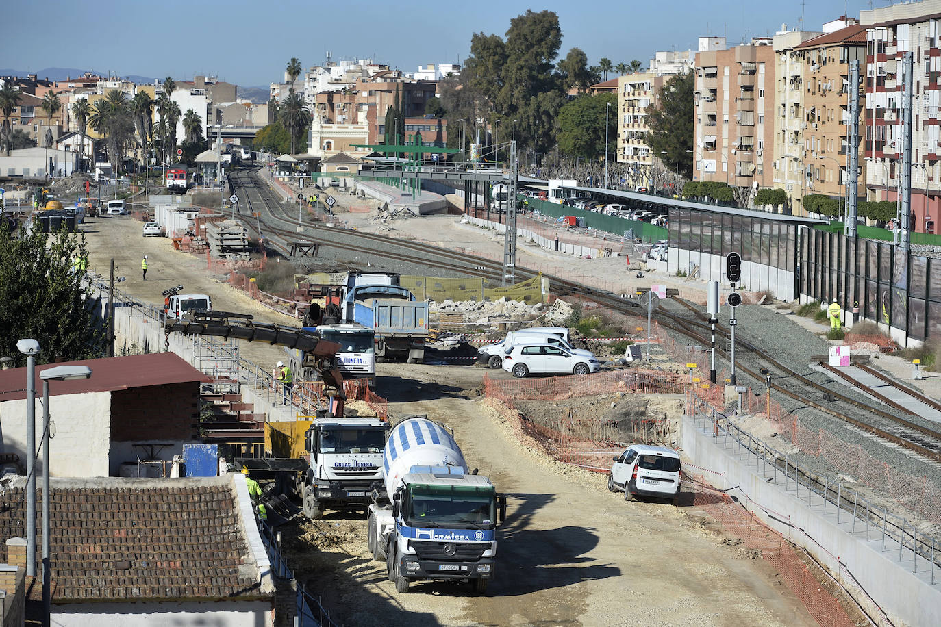
POLYGON ((270 627, 271 603, 70 603, 53 604, 62 627, 270 627))

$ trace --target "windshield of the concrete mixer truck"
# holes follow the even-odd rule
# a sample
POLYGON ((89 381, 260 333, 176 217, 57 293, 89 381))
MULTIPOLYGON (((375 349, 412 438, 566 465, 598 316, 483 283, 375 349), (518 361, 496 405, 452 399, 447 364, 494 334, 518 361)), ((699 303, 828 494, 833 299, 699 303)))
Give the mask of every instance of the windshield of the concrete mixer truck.
POLYGON ((492 488, 413 486, 408 502, 411 526, 474 527, 496 522, 492 488))

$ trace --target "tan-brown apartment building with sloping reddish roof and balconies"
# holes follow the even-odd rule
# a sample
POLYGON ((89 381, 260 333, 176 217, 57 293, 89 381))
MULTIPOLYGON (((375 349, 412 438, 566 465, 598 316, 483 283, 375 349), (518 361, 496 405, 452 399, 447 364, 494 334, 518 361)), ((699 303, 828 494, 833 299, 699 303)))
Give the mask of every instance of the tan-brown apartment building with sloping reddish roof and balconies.
MULTIPOLYGON (((804 116, 801 122, 801 155, 805 165, 805 194, 846 198, 850 146, 850 62, 858 60, 865 71, 866 28, 853 24, 824 33, 797 46, 804 62, 804 116)), ((860 131, 865 125, 860 108, 860 131)), ((862 169, 856 196, 866 195, 866 162, 860 142, 862 169)), ((795 214, 798 212, 795 206, 795 214)))

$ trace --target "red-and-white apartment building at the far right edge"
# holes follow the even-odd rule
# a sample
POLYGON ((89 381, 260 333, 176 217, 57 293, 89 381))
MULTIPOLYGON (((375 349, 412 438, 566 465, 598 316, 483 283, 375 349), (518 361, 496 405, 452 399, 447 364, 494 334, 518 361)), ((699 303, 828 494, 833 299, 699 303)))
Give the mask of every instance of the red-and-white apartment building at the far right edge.
POLYGON ((866 27, 866 188, 870 200, 898 198, 902 55, 914 53, 912 230, 938 232, 941 213, 941 0, 861 11, 866 27))

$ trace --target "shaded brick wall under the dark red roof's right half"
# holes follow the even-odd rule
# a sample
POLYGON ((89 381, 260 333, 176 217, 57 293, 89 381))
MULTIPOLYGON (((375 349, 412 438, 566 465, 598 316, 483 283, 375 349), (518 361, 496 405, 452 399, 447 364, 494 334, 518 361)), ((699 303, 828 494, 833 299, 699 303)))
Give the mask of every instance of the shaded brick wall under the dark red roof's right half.
POLYGON ((111 393, 111 441, 192 440, 199 384, 151 385, 111 393))

